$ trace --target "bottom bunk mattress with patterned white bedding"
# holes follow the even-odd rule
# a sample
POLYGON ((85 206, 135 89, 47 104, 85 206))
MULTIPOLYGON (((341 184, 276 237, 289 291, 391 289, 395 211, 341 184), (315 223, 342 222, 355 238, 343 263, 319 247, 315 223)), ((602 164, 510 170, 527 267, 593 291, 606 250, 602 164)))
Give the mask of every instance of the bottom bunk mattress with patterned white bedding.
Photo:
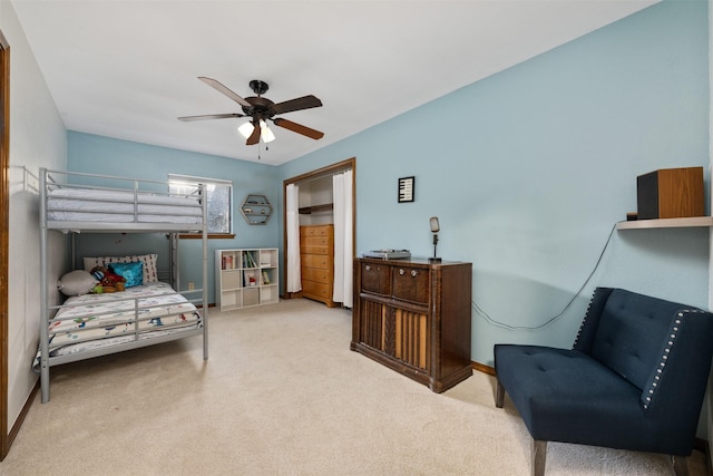
MULTIPOLYGON (((170 285, 153 282, 116 293, 69 298, 49 320, 49 357, 199 329, 196 307, 170 285)), ((41 349, 32 365, 40 371, 41 349)))

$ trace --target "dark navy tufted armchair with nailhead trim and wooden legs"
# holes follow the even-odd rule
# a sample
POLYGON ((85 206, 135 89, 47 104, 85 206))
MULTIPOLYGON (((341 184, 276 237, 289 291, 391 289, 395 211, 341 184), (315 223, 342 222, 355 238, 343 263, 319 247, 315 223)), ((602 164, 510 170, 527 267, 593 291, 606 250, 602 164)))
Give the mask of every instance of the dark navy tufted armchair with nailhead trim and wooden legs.
POLYGON ((687 474, 713 351, 713 314, 598 288, 572 350, 496 344, 496 406, 509 395, 533 436, 533 474, 547 441, 671 455, 687 474))

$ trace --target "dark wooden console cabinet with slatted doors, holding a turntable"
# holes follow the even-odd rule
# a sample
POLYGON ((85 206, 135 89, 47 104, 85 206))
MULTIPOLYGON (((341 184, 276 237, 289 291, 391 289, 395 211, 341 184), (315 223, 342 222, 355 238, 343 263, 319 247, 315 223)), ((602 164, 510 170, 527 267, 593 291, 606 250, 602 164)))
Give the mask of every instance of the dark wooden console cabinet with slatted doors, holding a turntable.
POLYGON ((354 259, 351 350, 440 394, 472 375, 472 264, 354 259))

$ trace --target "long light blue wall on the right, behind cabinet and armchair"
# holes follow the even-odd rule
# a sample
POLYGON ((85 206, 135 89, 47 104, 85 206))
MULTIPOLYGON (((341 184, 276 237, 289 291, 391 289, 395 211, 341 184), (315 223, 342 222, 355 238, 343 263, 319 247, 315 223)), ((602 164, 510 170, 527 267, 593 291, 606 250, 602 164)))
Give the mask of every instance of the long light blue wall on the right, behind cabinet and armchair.
POLYGON ((597 285, 705 308, 709 231, 654 230, 614 231, 565 310, 636 211, 637 175, 704 166, 707 187, 707 41, 705 1, 664 1, 285 164, 281 178, 355 156, 356 253, 429 255, 439 216, 439 255, 473 263, 478 362, 492 365, 496 342, 570 346, 597 285), (398 204, 410 175, 416 202, 398 204))

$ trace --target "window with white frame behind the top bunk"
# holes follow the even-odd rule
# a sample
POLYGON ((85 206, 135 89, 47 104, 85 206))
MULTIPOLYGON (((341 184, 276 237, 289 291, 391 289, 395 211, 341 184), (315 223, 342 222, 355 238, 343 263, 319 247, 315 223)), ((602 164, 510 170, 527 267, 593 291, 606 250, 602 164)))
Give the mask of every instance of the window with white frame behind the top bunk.
POLYGON ((208 233, 233 233, 233 182, 219 178, 168 174, 170 193, 189 194, 198 184, 206 185, 208 198, 208 233))

